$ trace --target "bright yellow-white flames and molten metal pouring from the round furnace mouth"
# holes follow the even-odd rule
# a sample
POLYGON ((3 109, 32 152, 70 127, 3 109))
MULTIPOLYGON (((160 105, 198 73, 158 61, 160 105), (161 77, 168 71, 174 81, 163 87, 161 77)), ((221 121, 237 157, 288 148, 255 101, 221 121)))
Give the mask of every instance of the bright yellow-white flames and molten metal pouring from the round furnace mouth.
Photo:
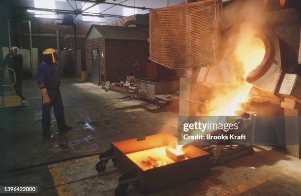
POLYGON ((232 61, 235 77, 231 84, 214 89, 213 98, 206 101, 207 115, 236 115, 236 111, 241 110, 240 103, 248 101, 252 85, 245 79, 250 71, 261 64, 266 53, 264 42, 254 35, 250 28, 243 28, 239 34, 232 61))

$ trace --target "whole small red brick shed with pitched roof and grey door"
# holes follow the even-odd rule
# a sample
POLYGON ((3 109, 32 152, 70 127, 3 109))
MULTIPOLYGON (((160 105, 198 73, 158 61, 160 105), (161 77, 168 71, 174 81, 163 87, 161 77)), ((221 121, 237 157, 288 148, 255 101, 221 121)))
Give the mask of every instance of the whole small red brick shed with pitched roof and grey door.
POLYGON ((114 82, 139 62, 140 77, 149 56, 149 29, 92 25, 86 36, 88 80, 102 85, 114 82))

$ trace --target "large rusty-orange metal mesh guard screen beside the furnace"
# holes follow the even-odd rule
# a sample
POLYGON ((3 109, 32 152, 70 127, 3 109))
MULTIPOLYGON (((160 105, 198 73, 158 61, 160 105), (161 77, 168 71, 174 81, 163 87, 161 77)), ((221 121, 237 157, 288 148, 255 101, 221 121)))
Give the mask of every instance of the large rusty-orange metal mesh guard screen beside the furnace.
POLYGON ((150 11, 150 59, 188 68, 214 58, 215 0, 150 11))

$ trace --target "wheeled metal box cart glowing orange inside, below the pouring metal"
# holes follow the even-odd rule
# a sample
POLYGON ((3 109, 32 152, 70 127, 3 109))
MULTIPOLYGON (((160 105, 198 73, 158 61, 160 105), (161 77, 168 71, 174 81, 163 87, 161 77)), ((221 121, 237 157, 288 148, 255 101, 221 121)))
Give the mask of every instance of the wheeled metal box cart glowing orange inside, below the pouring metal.
POLYGON ((99 162, 95 168, 99 172, 104 171, 109 160, 112 160, 119 168, 122 175, 115 189, 115 196, 125 196, 129 184, 141 194, 147 195, 206 174, 210 167, 209 153, 190 145, 185 146, 183 151, 186 159, 181 161, 171 160, 170 163, 151 166, 151 168, 140 164, 144 161, 137 161, 141 159, 141 156, 143 158, 152 156, 153 159, 159 159, 158 157, 162 156, 163 159, 168 159, 165 154, 154 152, 161 152, 157 150, 164 150, 169 146, 175 147, 177 141, 176 136, 163 133, 146 136, 145 140, 141 141, 134 138, 113 142, 112 147, 99 156, 99 162))

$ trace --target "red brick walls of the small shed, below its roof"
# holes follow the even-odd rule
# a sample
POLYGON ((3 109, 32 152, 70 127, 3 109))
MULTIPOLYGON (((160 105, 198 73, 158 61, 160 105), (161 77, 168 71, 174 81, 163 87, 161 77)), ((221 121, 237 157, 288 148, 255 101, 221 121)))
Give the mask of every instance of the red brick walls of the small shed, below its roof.
POLYGON ((123 40, 94 38, 86 41, 87 78, 92 75, 92 48, 99 47, 100 84, 114 82, 128 72, 135 62, 139 62, 140 78, 145 77, 145 66, 148 61, 149 43, 147 40, 123 40), (103 57, 102 57, 103 54, 103 57))

